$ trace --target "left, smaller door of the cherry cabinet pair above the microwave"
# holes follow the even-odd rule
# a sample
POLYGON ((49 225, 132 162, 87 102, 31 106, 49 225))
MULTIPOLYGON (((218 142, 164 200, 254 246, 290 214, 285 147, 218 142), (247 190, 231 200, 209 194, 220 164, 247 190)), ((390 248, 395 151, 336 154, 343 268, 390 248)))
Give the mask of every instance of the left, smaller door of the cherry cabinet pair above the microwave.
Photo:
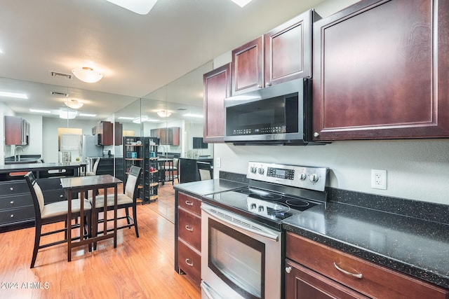
POLYGON ((263 83, 263 36, 232 50, 232 95, 257 90, 263 83))

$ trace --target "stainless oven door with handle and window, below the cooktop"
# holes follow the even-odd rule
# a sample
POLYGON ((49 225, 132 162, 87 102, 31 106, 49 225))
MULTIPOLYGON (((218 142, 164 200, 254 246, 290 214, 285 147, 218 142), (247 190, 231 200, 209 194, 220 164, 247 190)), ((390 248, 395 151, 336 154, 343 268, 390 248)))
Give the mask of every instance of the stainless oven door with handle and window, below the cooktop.
POLYGON ((281 298, 281 232, 201 204, 201 279, 202 298, 281 298))

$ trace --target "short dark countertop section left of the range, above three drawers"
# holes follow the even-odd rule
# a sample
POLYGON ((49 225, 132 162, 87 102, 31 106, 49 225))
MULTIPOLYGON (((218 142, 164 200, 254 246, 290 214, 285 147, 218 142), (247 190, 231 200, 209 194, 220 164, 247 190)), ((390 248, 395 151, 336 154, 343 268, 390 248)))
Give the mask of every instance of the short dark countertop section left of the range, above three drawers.
POLYGON ((211 179, 206 181, 192 181, 189 183, 179 183, 173 188, 183 193, 193 196, 203 196, 213 193, 219 193, 227 190, 233 190, 248 186, 246 183, 228 181, 226 179, 211 179))

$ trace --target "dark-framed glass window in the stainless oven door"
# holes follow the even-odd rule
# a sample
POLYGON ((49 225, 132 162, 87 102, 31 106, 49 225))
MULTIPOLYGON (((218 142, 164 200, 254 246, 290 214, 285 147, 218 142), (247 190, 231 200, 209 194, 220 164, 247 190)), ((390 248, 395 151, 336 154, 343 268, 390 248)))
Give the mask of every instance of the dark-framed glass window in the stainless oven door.
POLYGON ((264 298, 265 245, 213 219, 208 267, 244 298, 264 298))

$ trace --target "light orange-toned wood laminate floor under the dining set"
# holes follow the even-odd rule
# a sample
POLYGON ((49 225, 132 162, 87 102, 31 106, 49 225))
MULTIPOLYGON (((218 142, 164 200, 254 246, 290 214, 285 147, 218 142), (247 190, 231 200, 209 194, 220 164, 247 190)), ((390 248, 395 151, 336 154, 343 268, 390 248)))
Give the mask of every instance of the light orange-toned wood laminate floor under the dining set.
MULTIPOLYGON (((171 186, 170 186, 171 187, 171 186)), ((174 225, 138 204, 140 238, 133 228, 72 251, 67 244, 41 249, 29 269, 34 228, 0 234, 0 298, 201 298, 198 286, 174 270, 174 225)))

